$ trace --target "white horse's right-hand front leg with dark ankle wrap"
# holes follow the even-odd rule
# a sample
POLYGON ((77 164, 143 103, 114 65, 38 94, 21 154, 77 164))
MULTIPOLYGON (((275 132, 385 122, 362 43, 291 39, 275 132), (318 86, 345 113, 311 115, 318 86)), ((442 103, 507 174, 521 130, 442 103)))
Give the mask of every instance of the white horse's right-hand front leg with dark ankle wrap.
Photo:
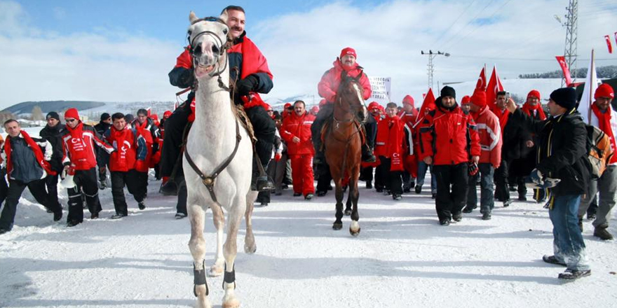
POLYGON ((233 198, 233 202, 238 204, 232 211, 229 212, 227 220, 229 225, 227 227, 227 239, 223 247, 223 253, 225 256, 225 275, 223 278, 223 289, 225 295, 223 296, 223 308, 237 308, 240 307, 240 301, 236 298, 236 269, 233 267, 233 262, 236 260, 238 253, 238 244, 236 243, 236 237, 238 237, 238 228, 242 222, 242 214, 246 211, 245 196, 237 196, 233 198))

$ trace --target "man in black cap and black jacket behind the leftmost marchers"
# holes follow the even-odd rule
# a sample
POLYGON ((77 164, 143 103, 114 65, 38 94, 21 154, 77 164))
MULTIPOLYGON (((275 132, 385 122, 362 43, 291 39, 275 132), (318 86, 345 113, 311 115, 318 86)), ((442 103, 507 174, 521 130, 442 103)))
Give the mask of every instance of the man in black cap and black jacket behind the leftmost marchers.
MULTIPOLYGON (((49 163, 51 169, 57 172, 57 174, 48 174, 45 179, 45 185, 49 193, 49 202, 51 204, 58 204, 59 207, 62 207, 57 200, 57 181, 58 174, 64 169, 62 166, 62 131, 65 130, 65 125, 60 124, 60 115, 55 111, 47 113, 46 119, 47 125, 43 127, 39 135, 41 138, 47 140, 53 148, 53 154, 51 155, 49 163)), ((48 209, 48 212, 49 211, 50 209, 48 209)))

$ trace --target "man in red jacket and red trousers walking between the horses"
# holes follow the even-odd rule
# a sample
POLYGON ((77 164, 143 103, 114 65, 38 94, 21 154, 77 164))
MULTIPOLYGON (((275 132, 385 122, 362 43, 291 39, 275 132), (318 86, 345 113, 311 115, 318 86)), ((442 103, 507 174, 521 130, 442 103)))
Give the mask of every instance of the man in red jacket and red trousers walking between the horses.
POLYGON ((306 112, 302 101, 294 102, 294 113, 283 120, 280 137, 287 142, 287 154, 292 160, 292 178, 294 197, 304 195, 311 200, 315 188, 313 186, 313 143, 311 141, 311 125, 315 116, 306 112))

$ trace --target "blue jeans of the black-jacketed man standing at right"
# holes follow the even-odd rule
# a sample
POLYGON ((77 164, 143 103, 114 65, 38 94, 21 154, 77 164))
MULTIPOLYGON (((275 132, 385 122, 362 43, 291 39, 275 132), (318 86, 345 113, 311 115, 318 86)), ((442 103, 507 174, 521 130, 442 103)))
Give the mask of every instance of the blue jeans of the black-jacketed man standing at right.
POLYGON ((552 246, 555 258, 566 263, 568 269, 581 271, 589 269, 585 255, 585 242, 578 228, 578 205, 581 195, 555 197, 552 209, 548 211, 552 223, 552 246))

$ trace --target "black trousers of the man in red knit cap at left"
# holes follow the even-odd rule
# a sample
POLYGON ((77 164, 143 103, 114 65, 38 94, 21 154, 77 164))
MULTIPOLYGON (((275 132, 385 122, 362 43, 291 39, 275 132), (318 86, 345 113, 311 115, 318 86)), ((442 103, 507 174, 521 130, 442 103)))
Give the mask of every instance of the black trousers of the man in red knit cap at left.
POLYGON ((67 221, 83 222, 83 201, 81 194, 86 196, 86 204, 90 214, 98 214, 102 211, 99 201, 99 188, 97 185, 97 171, 93 167, 88 170, 76 170, 73 178, 76 186, 67 189, 69 195, 69 215, 67 221))

